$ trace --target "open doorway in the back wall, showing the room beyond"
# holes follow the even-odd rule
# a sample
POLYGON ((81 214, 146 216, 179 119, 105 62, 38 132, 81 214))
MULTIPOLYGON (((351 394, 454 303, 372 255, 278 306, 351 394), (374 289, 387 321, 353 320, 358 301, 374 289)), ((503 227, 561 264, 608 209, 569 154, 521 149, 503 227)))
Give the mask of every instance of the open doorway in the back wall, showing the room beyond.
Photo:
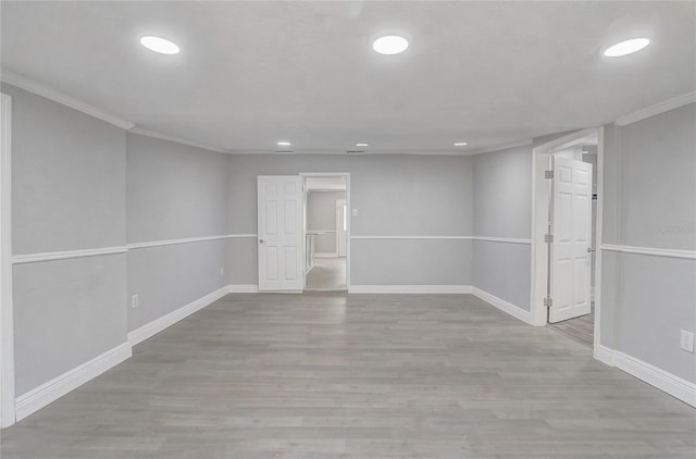
POLYGON ((304 290, 348 289, 348 174, 302 174, 304 290))

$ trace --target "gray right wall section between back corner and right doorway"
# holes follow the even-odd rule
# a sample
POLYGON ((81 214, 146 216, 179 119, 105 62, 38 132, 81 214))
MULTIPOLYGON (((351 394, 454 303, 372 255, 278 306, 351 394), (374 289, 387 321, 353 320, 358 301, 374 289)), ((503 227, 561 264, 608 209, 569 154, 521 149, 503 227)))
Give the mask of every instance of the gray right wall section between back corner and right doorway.
MULTIPOLYGON (((531 146, 473 157, 473 212, 474 236, 531 237, 531 146)), ((473 244, 473 285, 529 311, 531 245, 473 244)))

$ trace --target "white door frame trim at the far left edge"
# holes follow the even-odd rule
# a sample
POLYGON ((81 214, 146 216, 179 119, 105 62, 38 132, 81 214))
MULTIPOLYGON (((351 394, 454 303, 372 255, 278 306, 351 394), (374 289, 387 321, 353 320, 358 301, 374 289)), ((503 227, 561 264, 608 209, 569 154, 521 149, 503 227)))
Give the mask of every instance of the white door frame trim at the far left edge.
POLYGON ((14 321, 12 305, 12 98, 0 94, 0 429, 14 424, 14 321))

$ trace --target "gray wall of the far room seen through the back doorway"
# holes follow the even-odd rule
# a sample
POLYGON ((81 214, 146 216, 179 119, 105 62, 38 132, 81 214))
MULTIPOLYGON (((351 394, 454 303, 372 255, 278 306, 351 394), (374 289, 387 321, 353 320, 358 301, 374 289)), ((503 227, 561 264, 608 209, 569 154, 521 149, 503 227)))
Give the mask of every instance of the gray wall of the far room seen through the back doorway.
POLYGON ((307 197, 307 230, 333 231, 315 237, 316 253, 336 253, 336 200, 346 199, 343 191, 310 191, 307 197))

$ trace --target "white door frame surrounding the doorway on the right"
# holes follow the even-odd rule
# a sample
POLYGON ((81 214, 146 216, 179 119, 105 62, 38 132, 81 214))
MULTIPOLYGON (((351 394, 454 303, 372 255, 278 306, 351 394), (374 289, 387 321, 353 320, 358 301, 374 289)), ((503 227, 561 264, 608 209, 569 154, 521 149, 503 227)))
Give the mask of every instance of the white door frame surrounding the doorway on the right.
POLYGON ((595 332, 594 347, 599 346, 600 310, 601 310, 601 221, 604 209, 604 127, 591 127, 579 131, 532 149, 532 288, 531 318, 535 326, 546 325, 546 281, 548 275, 548 248, 544 235, 548 230, 548 203, 550 200, 550 184, 544 177, 544 171, 549 166, 551 152, 557 149, 579 144, 587 136, 597 135, 597 220, 595 240, 595 332))

